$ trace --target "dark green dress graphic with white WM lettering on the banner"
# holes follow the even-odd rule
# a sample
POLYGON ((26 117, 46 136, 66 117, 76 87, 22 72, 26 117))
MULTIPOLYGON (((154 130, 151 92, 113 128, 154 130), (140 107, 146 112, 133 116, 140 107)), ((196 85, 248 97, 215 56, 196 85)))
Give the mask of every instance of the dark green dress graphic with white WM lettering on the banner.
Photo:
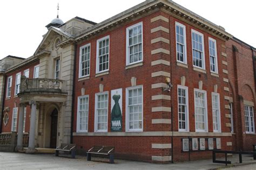
POLYGON ((122 111, 119 106, 120 95, 113 95, 114 106, 111 111, 111 131, 122 131, 122 111))

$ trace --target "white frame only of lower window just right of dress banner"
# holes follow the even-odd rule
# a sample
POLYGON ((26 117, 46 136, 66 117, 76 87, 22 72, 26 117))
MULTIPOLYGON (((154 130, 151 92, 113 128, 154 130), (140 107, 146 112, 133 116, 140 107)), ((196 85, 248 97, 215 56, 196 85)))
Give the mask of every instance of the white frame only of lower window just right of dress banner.
POLYGON ((143 132, 143 85, 140 86, 134 86, 134 87, 128 87, 126 88, 126 94, 125 94, 125 131, 126 132, 143 132), (142 129, 130 129, 130 113, 129 113, 129 90, 132 89, 138 89, 142 88, 142 129))

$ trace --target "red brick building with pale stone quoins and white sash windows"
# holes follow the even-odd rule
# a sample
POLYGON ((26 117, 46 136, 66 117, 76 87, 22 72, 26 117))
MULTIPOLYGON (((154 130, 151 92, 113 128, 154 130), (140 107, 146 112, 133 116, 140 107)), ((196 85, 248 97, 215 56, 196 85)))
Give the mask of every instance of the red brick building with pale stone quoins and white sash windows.
MULTIPOLYGON (((115 146, 116 158, 169 162, 210 158, 213 149, 252 150, 256 52, 223 27, 159 0, 102 23, 76 17, 48 29, 33 62, 5 71, 6 93, 11 75, 12 86, 4 108, 12 111, 19 103, 17 73, 30 68, 32 78, 40 63, 40 75, 49 79, 48 66, 56 68, 51 61, 59 60, 62 72, 70 66, 69 73, 58 72, 60 79, 70 76, 66 101, 72 105, 55 105, 64 106, 58 109, 66 113, 58 115, 58 126, 78 153, 106 145, 115 146), (86 29, 73 28, 71 36, 72 22, 84 22, 86 29)), ((45 110, 40 112, 50 120, 45 110)), ((27 132, 29 123, 25 126, 27 132)), ((10 124, 2 125, 2 132, 10 131, 10 124)))

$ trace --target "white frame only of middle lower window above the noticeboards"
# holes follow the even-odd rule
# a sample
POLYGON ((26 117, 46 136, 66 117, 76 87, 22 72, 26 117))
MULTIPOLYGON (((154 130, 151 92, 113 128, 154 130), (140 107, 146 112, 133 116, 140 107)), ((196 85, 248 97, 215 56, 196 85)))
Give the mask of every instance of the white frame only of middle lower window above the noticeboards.
POLYGON ((200 89, 194 89, 194 127, 196 129, 196 132, 208 132, 208 112, 207 112, 207 91, 205 90, 200 90, 200 89), (205 115, 204 115, 204 123, 205 123, 205 129, 196 129, 196 91, 203 93, 205 95, 205 115))

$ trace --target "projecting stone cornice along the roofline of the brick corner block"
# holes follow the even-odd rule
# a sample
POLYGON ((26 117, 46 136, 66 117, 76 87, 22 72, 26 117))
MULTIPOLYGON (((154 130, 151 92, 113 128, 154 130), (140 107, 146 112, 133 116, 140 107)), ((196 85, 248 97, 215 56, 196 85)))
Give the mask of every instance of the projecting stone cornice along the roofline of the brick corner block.
POLYGON ((131 9, 104 20, 102 23, 86 29, 84 32, 82 32, 82 34, 80 34, 80 36, 75 38, 75 42, 79 43, 85 39, 90 39, 93 36, 102 34, 120 25, 131 22, 131 20, 142 18, 143 16, 149 15, 157 10, 163 10, 164 12, 170 13, 172 16, 179 18, 184 22, 189 23, 198 29, 204 30, 220 39, 228 40, 233 37, 231 34, 227 33, 223 27, 213 24, 205 18, 198 16, 196 13, 185 9, 183 6, 180 6, 172 1, 150 0, 138 4, 131 9))

